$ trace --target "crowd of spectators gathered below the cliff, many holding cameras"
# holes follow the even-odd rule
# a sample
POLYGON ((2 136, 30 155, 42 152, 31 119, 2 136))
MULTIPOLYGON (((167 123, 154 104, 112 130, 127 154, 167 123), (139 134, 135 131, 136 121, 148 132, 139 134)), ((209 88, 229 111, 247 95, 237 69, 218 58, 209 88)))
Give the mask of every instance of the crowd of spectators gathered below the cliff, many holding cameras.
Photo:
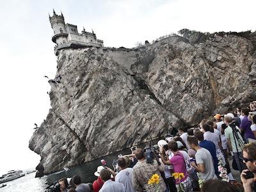
POLYGON ((198 127, 179 127, 157 145, 131 148, 113 169, 99 166, 93 184, 60 179, 61 191, 245 191, 256 192, 256 102, 234 113, 216 114, 198 127), (231 163, 228 162, 228 159, 231 163), (232 161, 231 161, 232 160, 232 161), (235 180, 231 170, 241 173, 235 180))

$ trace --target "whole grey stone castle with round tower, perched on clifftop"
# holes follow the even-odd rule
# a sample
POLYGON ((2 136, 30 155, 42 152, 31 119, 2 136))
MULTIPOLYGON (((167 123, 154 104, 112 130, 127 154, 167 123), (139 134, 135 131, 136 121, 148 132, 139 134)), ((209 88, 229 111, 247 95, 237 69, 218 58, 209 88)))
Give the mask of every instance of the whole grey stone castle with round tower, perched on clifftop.
POLYGON ((96 38, 95 33, 83 31, 78 33, 77 26, 72 24, 65 24, 63 14, 57 15, 53 10, 52 17, 49 15, 54 35, 52 36, 52 42, 56 45, 54 47, 55 54, 58 54, 58 50, 65 49, 67 47, 80 48, 80 47, 103 47, 103 41, 96 38))

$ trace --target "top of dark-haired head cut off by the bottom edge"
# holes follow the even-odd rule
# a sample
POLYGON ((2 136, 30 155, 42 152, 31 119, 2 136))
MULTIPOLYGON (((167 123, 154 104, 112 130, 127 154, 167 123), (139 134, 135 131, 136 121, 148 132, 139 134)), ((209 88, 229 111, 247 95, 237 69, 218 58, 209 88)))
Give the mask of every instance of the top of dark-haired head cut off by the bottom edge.
POLYGON ((239 192, 239 189, 223 180, 210 179, 205 181, 202 186, 201 192, 239 192))

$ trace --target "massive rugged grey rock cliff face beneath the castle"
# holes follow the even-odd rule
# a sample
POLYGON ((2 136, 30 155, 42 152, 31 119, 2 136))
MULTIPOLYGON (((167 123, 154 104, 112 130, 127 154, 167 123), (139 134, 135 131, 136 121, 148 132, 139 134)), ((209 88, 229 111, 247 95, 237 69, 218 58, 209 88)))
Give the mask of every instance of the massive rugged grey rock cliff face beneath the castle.
POLYGON ((29 141, 42 157, 38 176, 256 99, 255 33, 221 35, 60 51, 56 79, 49 81, 52 108, 29 141))

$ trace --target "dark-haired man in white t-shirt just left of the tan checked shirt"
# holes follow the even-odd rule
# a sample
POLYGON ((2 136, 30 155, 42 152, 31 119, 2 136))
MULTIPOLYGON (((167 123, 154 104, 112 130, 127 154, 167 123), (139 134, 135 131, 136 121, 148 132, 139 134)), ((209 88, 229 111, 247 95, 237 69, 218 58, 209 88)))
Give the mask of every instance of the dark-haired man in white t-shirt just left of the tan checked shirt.
POLYGON ((122 183, 125 191, 135 192, 135 189, 132 187, 132 168, 128 167, 130 165, 129 157, 120 157, 117 163, 120 172, 116 174, 115 181, 122 183))

